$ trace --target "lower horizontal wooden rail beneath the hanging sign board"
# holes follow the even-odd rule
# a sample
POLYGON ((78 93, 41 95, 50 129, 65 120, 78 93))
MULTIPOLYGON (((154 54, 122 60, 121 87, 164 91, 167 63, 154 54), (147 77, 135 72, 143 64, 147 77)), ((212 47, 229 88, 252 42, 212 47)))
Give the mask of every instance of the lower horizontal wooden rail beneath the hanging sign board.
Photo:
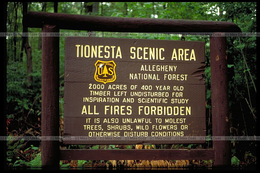
POLYGON ((60 160, 214 160, 214 149, 61 149, 60 160))

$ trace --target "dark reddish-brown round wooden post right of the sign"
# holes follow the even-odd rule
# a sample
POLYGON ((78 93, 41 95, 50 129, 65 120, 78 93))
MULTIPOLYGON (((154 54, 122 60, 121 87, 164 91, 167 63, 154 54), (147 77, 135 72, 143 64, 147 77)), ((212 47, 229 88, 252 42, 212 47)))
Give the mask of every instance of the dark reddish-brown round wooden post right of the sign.
MULTIPOLYGON (((226 51, 226 37, 210 37, 213 136, 230 136, 226 51)), ((230 141, 213 141, 213 149, 215 149, 214 166, 231 165, 230 141)))

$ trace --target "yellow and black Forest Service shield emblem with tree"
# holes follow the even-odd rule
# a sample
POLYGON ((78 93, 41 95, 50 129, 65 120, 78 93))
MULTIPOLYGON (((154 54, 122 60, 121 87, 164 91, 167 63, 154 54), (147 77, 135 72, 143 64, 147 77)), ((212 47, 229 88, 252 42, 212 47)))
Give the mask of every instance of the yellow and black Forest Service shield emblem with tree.
POLYGON ((97 60, 95 63, 95 80, 98 82, 104 82, 104 84, 107 82, 114 82, 116 79, 115 66, 116 65, 114 61, 97 60))

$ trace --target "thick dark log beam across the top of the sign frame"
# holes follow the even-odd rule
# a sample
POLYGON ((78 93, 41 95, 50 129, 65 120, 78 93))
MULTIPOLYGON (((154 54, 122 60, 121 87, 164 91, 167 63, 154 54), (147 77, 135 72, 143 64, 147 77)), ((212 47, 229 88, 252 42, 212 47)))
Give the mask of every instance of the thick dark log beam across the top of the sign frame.
POLYGON ((241 32, 232 22, 106 17, 30 11, 23 17, 23 26, 42 28, 43 24, 60 29, 107 32, 241 32))

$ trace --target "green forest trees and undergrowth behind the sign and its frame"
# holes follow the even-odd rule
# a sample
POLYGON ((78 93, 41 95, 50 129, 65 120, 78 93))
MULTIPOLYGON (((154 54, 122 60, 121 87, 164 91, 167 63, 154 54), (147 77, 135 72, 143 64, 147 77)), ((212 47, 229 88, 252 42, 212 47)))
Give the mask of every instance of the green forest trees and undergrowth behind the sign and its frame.
MULTIPOLYGON (((242 32, 256 32, 256 2, 8 2, 7 32, 41 32, 24 28, 22 18, 28 11, 58 12, 113 17, 229 21, 242 32)), ((87 31, 87 28, 86 28, 87 31)), ((60 32, 74 32, 60 30, 60 32)), ((85 32, 85 31, 77 31, 85 32)), ((123 37, 120 37, 123 38, 123 37)), ((135 38, 135 37, 132 37, 135 38)), ((140 37, 136 37, 140 38, 140 37)), ((176 37, 142 39, 180 40, 176 37)), ((211 75, 209 37, 186 37, 186 41, 205 41, 207 136, 212 136, 211 75)), ((63 135, 64 46, 60 37, 60 134, 63 135)), ((6 136, 41 136, 41 37, 7 37, 6 136)), ((229 108, 231 136, 256 135, 256 37, 227 37, 229 108)), ((231 141, 231 163, 235 168, 256 165, 256 142, 231 141)), ((199 149, 205 144, 173 145, 65 145, 63 149, 199 149)), ((40 141, 7 141, 6 164, 9 168, 41 166, 40 141)), ((210 161, 61 161, 62 168, 105 167, 211 167, 210 161)))

